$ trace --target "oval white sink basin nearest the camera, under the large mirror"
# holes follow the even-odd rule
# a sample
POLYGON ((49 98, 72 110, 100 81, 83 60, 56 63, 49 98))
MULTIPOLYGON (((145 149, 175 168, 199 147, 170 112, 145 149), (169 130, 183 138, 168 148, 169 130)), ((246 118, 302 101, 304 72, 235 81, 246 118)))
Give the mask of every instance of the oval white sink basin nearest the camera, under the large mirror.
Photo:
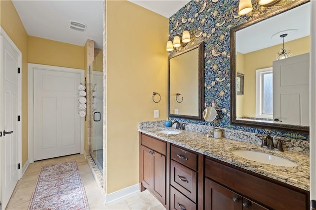
POLYGON ((287 160, 282 157, 278 157, 272 154, 267 154, 259 151, 249 151, 249 150, 233 150, 233 154, 243 157, 248 160, 256 161, 259 163, 266 163, 275 166, 286 166, 294 167, 298 166, 296 163, 287 160))

